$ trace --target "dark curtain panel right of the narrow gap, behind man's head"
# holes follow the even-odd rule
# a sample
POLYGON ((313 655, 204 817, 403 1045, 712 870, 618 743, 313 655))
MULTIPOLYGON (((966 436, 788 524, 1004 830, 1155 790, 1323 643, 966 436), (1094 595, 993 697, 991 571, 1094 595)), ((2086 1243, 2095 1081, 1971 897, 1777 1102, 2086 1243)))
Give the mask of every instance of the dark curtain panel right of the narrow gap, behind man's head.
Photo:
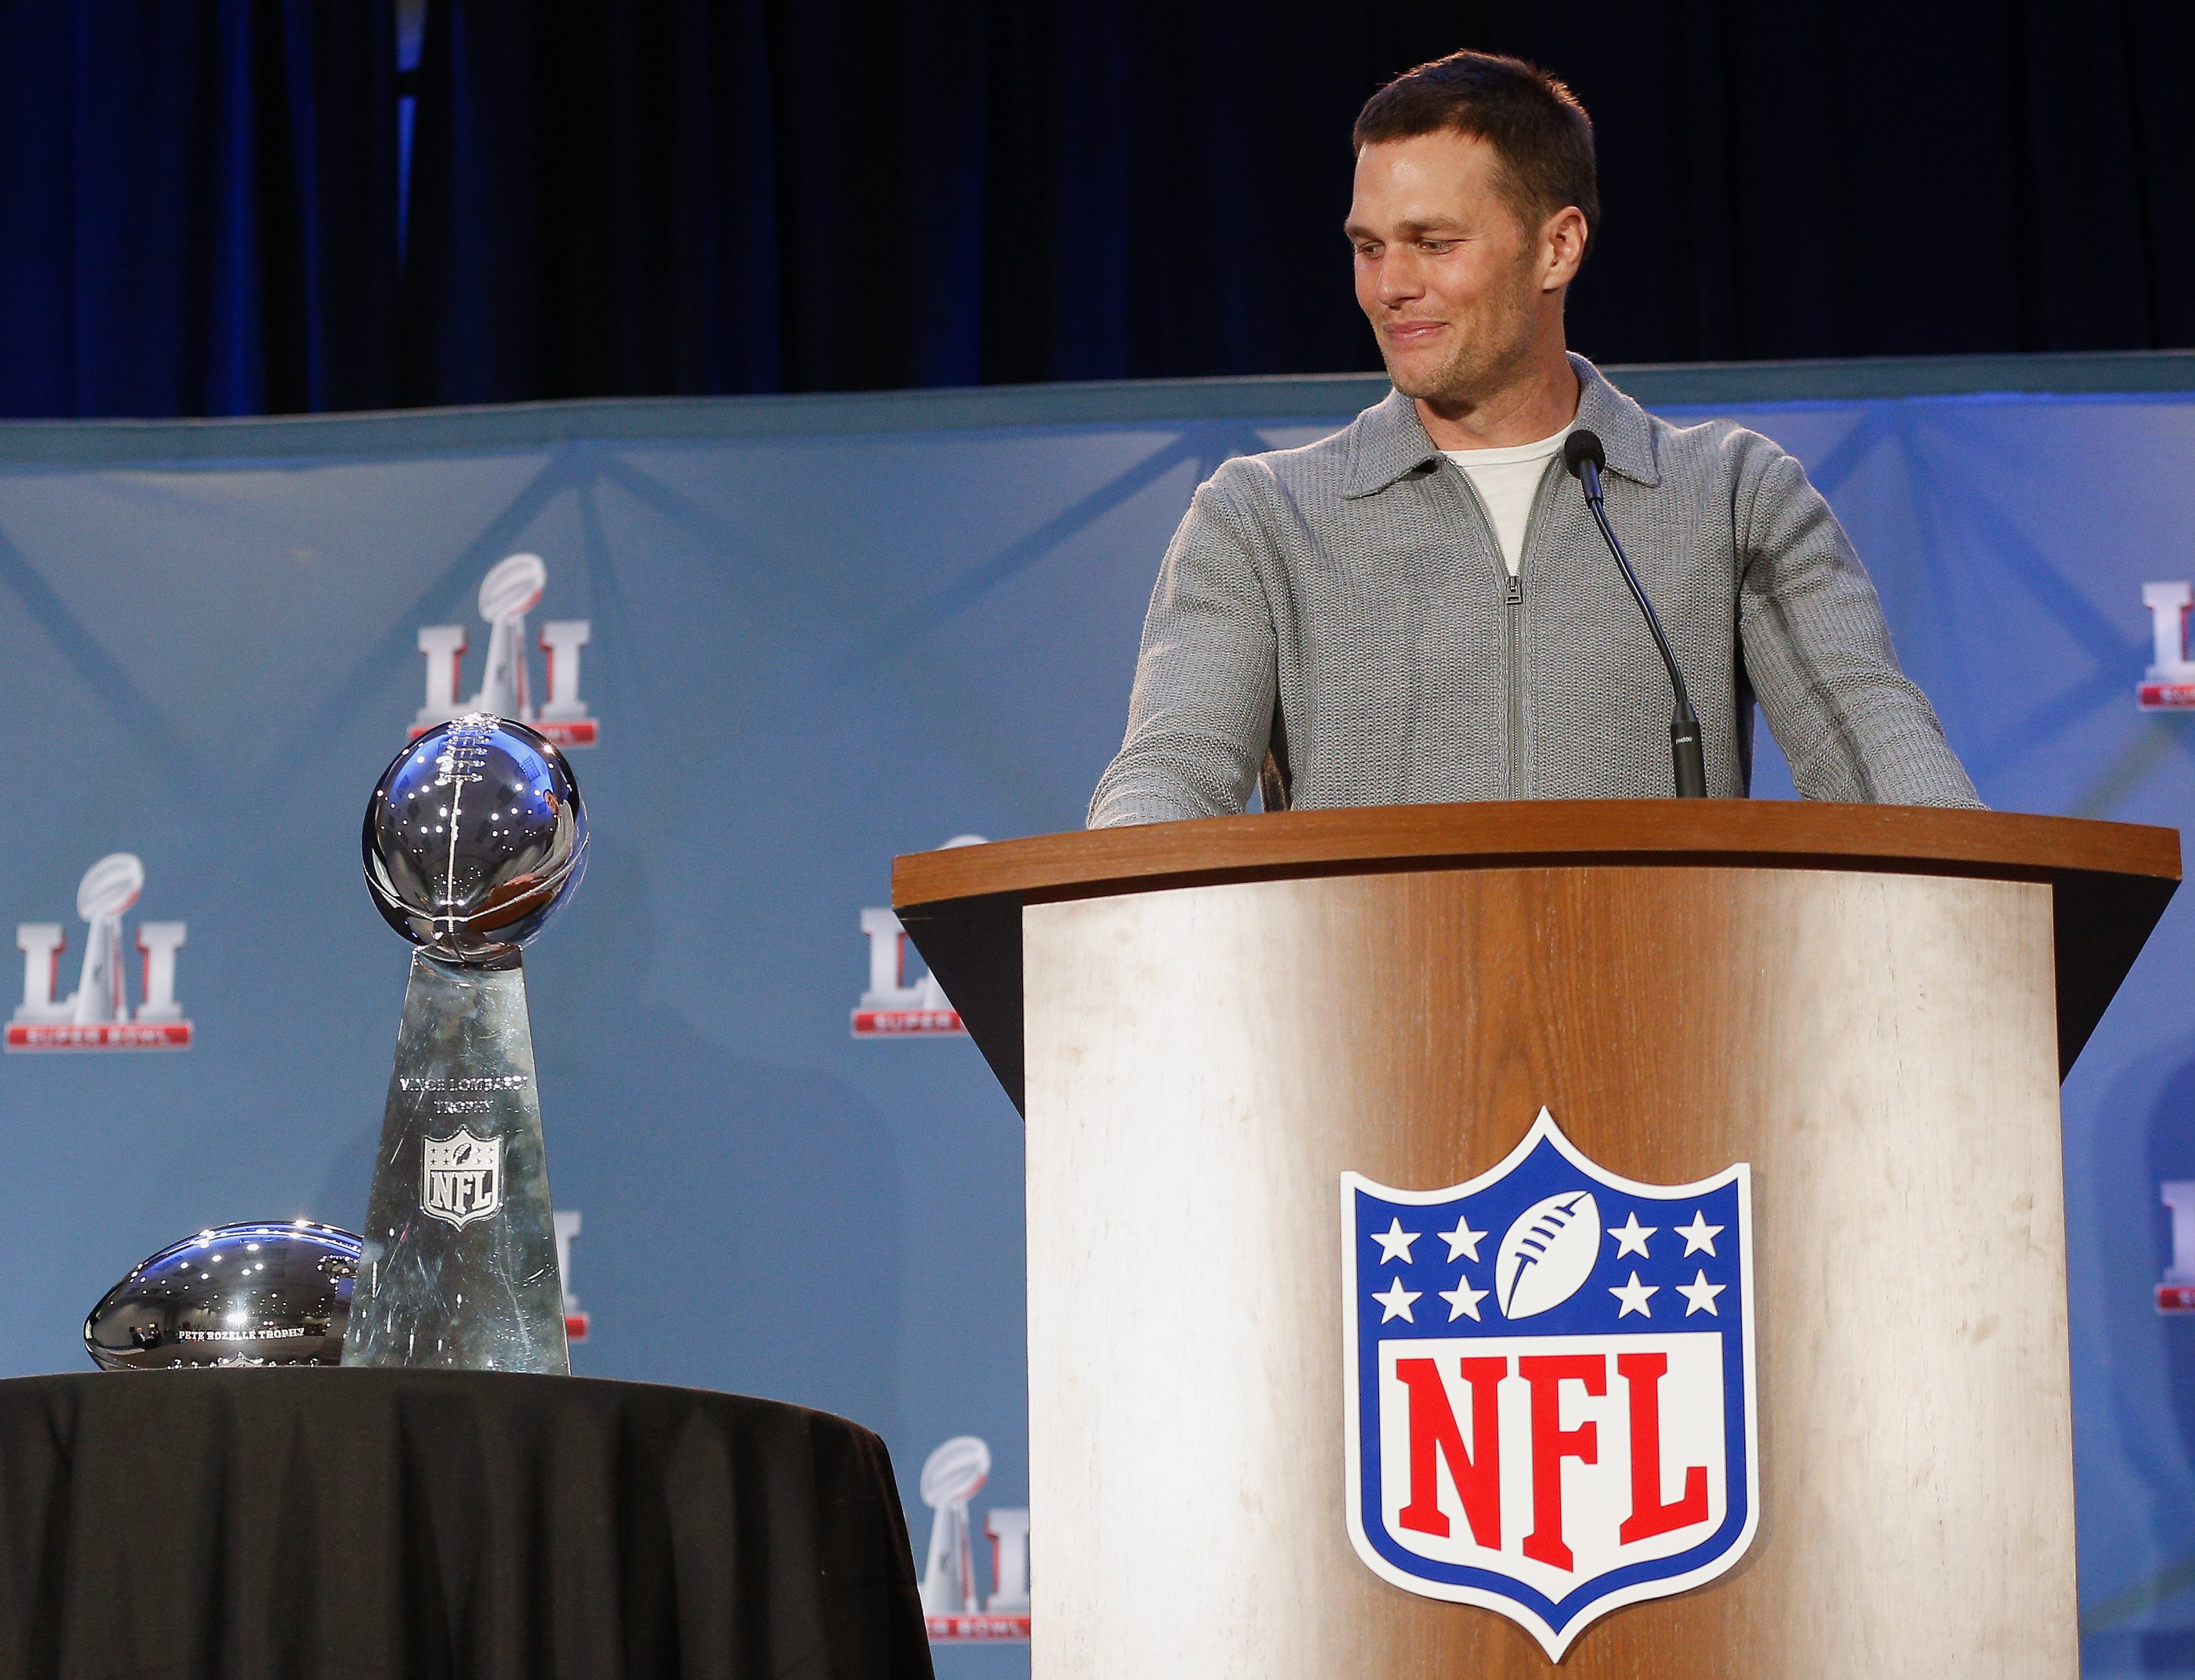
POLYGON ((430 0, 406 397, 1376 354, 1348 127, 1455 46, 1596 116, 1609 362, 2195 343, 2184 0, 430 0))

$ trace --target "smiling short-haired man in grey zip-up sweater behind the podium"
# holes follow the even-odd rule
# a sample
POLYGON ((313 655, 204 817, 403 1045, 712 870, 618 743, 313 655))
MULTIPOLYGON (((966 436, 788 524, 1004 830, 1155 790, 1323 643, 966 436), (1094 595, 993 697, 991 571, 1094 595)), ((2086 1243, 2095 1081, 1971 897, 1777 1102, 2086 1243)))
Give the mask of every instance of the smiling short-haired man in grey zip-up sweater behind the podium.
POLYGON ((1269 808, 1670 795, 1670 676, 1565 472, 1574 430, 1697 705, 1706 793, 1747 793, 1758 701, 1809 799, 1978 806, 1800 463, 1657 419, 1569 354, 1600 222, 1572 92, 1455 53, 1381 88, 1354 145, 1346 233, 1394 391, 1196 490, 1089 824, 1240 813, 1260 771, 1269 808))

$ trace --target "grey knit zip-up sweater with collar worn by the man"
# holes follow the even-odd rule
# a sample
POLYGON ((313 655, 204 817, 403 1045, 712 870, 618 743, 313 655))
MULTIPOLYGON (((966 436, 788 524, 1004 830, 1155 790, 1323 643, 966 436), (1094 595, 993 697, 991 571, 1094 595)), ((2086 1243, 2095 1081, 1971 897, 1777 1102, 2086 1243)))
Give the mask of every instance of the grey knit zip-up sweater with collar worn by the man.
MULTIPOLYGON (((1609 520, 1699 709, 1708 793, 1745 795, 1758 696, 1809 799, 1980 806, 1804 468, 1723 419, 1657 419, 1569 360, 1609 520)), ((1576 479, 1550 461, 1510 578, 1471 479, 1398 391, 1198 485, 1091 828, 1240 813, 1275 701, 1299 808, 1675 795, 1668 674, 1576 479)))

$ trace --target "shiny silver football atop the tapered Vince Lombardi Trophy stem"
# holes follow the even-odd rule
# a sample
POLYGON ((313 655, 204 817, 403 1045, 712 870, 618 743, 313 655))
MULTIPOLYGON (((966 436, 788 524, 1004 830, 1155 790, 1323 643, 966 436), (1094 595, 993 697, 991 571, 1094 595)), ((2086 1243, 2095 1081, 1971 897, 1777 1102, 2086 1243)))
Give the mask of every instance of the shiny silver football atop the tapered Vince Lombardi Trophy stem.
POLYGON ((386 922, 430 957, 494 968, 579 885, 586 808, 549 740, 472 712, 382 771, 362 837, 386 922))

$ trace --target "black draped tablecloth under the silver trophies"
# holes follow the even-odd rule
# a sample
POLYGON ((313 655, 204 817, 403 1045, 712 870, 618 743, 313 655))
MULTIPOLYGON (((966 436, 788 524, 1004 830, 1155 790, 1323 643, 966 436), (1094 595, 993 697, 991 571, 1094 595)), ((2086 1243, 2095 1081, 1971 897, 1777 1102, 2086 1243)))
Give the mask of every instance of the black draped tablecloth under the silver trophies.
POLYGON ((909 1680, 885 1443, 457 1370, 0 1381, 0 1680, 909 1680))

